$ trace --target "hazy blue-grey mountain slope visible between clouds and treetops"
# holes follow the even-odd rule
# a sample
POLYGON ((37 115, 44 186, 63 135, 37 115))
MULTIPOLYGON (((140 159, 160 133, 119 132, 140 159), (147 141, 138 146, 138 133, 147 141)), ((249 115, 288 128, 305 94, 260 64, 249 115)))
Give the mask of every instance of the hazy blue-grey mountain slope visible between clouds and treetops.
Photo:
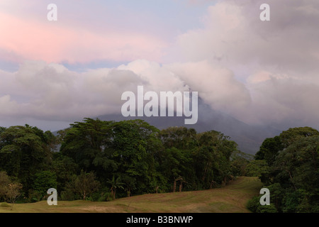
POLYGON ((198 121, 194 125, 185 125, 184 116, 158 116, 158 117, 123 117, 121 114, 108 114, 98 116, 103 121, 123 121, 129 119, 142 119, 159 129, 169 126, 185 126, 194 128, 197 132, 219 131, 230 136, 242 152, 254 155, 259 150, 265 138, 274 137, 280 131, 261 126, 250 126, 247 123, 233 118, 219 111, 214 111, 204 104, 198 105, 198 121))

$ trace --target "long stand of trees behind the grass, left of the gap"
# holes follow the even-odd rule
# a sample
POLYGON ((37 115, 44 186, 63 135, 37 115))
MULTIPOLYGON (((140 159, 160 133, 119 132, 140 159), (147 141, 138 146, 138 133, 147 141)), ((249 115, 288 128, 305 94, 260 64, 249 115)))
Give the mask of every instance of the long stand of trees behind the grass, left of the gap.
POLYGON ((0 128, 0 201, 9 182, 21 186, 19 200, 109 201, 146 193, 223 187, 249 162, 223 133, 193 128, 159 131, 142 120, 84 118, 53 135, 33 126, 0 128), (1 189, 1 188, 0 188, 1 189))

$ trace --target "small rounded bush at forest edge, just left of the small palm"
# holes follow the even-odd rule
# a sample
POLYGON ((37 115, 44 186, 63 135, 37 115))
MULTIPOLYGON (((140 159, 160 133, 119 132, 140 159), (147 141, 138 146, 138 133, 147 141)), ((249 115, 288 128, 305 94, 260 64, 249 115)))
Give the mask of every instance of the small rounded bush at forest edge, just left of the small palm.
POLYGON ((99 190, 100 183, 95 180, 93 172, 86 173, 83 170, 81 174, 75 180, 75 189, 81 194, 83 200, 85 200, 92 193, 99 190))

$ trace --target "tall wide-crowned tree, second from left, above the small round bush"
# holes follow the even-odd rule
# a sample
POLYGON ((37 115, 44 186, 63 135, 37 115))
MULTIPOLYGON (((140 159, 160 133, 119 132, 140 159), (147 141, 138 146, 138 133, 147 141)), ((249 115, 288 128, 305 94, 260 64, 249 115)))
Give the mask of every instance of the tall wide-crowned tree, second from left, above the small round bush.
POLYGON ((71 157, 85 172, 96 172, 96 176, 106 180, 106 172, 117 169, 116 162, 111 159, 113 121, 84 118, 83 122, 75 122, 65 131, 60 132, 62 141, 60 152, 71 157))

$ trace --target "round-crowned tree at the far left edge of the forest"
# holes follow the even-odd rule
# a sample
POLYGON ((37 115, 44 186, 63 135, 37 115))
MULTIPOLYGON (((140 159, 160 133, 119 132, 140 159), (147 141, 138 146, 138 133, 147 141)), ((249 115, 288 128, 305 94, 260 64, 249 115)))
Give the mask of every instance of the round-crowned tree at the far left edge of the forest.
POLYGON ((35 173, 50 166, 53 137, 28 125, 11 126, 0 135, 0 169, 17 177, 26 194, 33 186, 35 173))

